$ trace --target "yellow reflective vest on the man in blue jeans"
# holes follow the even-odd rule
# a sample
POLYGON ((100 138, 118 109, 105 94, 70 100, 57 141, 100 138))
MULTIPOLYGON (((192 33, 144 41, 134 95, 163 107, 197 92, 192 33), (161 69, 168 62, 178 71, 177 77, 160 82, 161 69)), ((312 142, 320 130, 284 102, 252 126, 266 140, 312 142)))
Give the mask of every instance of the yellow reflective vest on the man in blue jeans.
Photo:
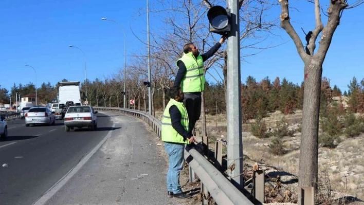
POLYGON ((177 131, 172 127, 171 115, 169 114, 169 108, 172 105, 175 105, 178 108, 181 114, 181 124, 186 129, 186 131, 189 132, 188 114, 185 105, 183 104, 183 102, 178 102, 174 99, 171 99, 168 102, 166 109, 163 113, 161 127, 162 141, 189 144, 190 141, 179 135, 177 131))

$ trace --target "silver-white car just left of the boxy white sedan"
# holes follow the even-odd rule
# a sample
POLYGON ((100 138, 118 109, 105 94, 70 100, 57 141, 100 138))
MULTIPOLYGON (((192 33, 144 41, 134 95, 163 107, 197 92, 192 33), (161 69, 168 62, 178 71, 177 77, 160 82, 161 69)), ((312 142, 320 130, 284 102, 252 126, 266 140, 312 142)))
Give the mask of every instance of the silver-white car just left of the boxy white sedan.
POLYGON ((31 107, 25 114, 25 126, 35 124, 55 124, 56 116, 54 111, 51 111, 48 107, 31 107))

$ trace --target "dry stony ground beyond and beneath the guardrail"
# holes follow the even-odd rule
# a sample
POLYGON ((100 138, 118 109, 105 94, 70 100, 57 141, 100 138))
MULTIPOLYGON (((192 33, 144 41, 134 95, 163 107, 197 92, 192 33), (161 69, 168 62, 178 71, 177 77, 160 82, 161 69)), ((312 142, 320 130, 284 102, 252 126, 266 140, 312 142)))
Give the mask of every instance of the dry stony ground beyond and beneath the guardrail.
MULTIPOLYGON (((161 112, 156 112, 158 119, 161 115, 161 112)), ((268 127, 274 129, 277 121, 283 116, 279 111, 270 114, 265 119, 268 127)), ((284 117, 289 128, 296 130, 300 126, 302 112, 298 110, 295 114, 284 117)), ((209 150, 213 152, 216 140, 227 140, 227 119, 225 115, 206 118, 209 150)), ((244 172, 252 171, 254 163, 258 163, 260 169, 265 171, 265 204, 297 204, 301 133, 296 132, 293 137, 284 137, 287 153, 276 156, 269 151, 271 138, 259 139, 252 136, 249 132, 250 123, 242 126, 244 172)), ((196 130, 201 132, 201 122, 197 122, 196 130)), ((355 138, 342 136, 341 140, 336 148, 319 148, 319 192, 323 194, 319 198, 322 199, 322 204, 364 204, 364 134, 355 138)), ((188 179, 186 166, 181 173, 181 185, 185 192, 190 192, 194 197, 181 201, 180 204, 201 204, 199 183, 189 183, 188 179)))

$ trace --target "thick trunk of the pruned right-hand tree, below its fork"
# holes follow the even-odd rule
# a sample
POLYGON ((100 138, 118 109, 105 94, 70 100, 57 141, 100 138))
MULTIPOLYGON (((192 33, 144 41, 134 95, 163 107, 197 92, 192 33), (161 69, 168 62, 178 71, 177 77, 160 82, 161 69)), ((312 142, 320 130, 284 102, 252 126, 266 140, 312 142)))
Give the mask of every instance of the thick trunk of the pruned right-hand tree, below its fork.
POLYGON ((314 187, 317 190, 322 63, 318 63, 315 57, 312 57, 309 63, 305 65, 304 70, 305 80, 298 185, 300 187, 314 187))

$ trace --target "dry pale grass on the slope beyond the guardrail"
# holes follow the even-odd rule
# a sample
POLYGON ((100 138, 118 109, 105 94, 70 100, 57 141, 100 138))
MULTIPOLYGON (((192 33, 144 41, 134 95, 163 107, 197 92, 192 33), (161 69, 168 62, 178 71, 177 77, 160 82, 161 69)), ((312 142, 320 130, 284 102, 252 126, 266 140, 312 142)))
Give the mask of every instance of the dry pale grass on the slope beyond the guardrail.
MULTIPOLYGON (((162 112, 156 113, 156 116, 161 119, 162 112)), ((302 111, 297 110, 295 114, 286 116, 280 111, 271 113, 265 118, 267 127, 274 129, 282 117, 286 119, 290 128, 297 129, 301 124, 302 111)), ((227 118, 225 114, 207 115, 206 121, 210 142, 209 148, 213 151, 216 139, 227 140, 227 118)), ((253 163, 258 162, 260 167, 266 169, 268 173, 280 173, 283 184, 282 190, 289 190, 294 193, 292 197, 297 197, 295 192, 297 192, 301 134, 295 133, 294 137, 283 137, 287 154, 275 156, 269 152, 271 138, 259 139, 250 134, 250 124, 252 122, 254 120, 242 125, 243 152, 244 156, 246 156, 244 163, 250 164, 251 167, 253 163)), ((200 121, 196 123, 196 130, 201 133, 200 121)), ((329 179, 332 190, 331 199, 352 196, 364 201, 364 146, 362 146, 364 144, 364 134, 355 138, 345 138, 344 136, 340 138, 342 142, 336 148, 319 148, 319 178, 327 176, 329 179)), ((345 203, 331 201, 331 204, 345 203)), ((346 204, 349 204, 349 202, 346 204)), ((350 204, 359 203, 351 202, 350 204)))

